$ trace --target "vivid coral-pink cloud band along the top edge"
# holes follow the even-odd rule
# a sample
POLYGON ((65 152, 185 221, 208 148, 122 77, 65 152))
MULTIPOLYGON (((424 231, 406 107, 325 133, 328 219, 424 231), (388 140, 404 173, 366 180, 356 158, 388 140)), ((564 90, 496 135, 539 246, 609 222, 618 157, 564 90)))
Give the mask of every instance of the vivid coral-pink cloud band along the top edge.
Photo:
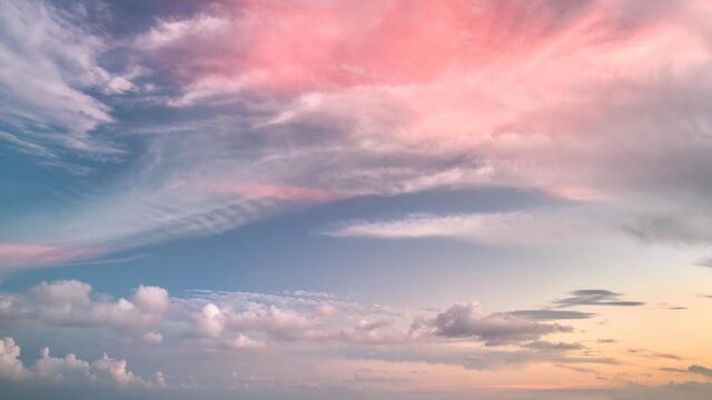
POLYGON ((675 18, 655 18, 655 12, 688 12, 685 7, 653 8, 642 22, 623 24, 625 8, 615 2, 568 10, 544 1, 524 7, 463 0, 233 4, 221 10, 225 17, 161 21, 139 43, 180 59, 176 72, 194 82, 208 78, 216 84, 304 90, 428 83, 474 73, 516 80, 520 93, 508 97, 553 78, 601 72, 603 66, 624 73, 657 68, 642 58, 685 63, 704 48, 675 26, 675 18), (672 49, 685 50, 675 52, 684 57, 672 57, 672 49), (571 68, 594 53, 582 64, 586 68, 571 68), (517 80, 532 69, 546 79, 517 80))

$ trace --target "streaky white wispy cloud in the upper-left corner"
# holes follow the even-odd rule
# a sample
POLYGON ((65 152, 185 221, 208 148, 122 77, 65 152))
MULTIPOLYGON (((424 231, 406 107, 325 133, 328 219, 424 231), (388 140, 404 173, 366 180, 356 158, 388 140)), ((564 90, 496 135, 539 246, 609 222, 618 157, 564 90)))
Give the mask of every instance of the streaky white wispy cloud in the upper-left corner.
POLYGON ((10 126, 16 144, 48 156, 51 147, 107 153, 117 149, 91 137, 111 122, 109 107, 87 94, 130 90, 126 78, 98 63, 105 43, 76 23, 68 11, 46 2, 0 4, 0 119, 10 126), (14 133, 17 132, 17 134, 14 133))

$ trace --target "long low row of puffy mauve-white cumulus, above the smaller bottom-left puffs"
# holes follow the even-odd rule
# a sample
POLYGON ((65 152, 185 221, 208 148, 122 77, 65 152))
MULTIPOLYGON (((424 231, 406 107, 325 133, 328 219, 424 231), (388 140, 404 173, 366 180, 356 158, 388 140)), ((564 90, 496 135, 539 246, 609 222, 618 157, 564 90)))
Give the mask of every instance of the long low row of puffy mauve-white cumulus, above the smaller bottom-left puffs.
POLYGON ((206 349, 234 350, 260 349, 269 341, 402 346, 459 339, 498 346, 571 331, 512 312, 487 313, 478 303, 455 303, 429 318, 304 291, 280 296, 196 291, 171 298, 162 288, 139 286, 130 299, 112 300, 93 296, 91 286, 73 280, 1 294, 0 316, 6 321, 109 328, 150 344, 162 343, 159 330, 168 329, 206 349))

